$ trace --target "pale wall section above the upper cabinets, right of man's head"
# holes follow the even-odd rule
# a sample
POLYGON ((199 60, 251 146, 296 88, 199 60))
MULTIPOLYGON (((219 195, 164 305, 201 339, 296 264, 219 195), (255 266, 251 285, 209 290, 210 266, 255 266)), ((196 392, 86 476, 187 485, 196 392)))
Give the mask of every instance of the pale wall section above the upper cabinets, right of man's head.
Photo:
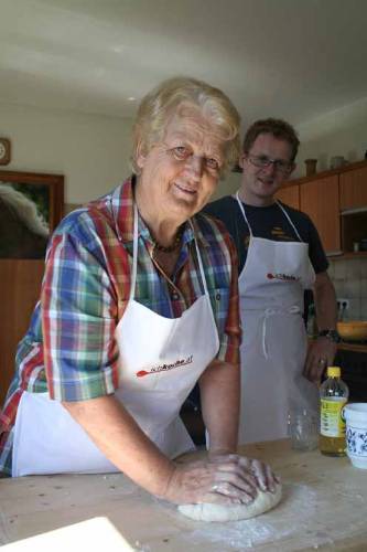
POLYGON ((299 125, 296 130, 301 147, 295 178, 305 176, 307 158, 317 159, 317 172, 330 169, 333 156, 359 161, 367 150, 367 97, 299 125))

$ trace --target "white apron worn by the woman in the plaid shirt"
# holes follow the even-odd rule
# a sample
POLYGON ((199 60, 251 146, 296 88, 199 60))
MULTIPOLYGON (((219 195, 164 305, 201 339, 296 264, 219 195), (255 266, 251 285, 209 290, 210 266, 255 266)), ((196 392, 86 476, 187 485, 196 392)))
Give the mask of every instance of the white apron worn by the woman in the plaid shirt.
MULTIPOLYGON (((131 291, 116 329, 119 388, 116 396, 141 429, 173 458, 195 448, 179 413, 215 358, 219 340, 202 257, 204 295, 181 318, 164 318, 134 300, 138 210, 134 208, 131 291)), ((12 476, 118 471, 60 402, 47 393, 22 394, 17 413, 12 476)))

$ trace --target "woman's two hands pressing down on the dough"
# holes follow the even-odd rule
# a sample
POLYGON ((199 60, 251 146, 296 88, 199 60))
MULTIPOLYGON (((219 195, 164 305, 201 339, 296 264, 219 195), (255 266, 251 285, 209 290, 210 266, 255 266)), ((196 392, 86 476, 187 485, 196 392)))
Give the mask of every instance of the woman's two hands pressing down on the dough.
POLYGON ((176 464, 162 498, 181 505, 246 505, 256 498, 259 489, 274 491, 276 482, 278 478, 261 461, 236 454, 220 455, 176 464))

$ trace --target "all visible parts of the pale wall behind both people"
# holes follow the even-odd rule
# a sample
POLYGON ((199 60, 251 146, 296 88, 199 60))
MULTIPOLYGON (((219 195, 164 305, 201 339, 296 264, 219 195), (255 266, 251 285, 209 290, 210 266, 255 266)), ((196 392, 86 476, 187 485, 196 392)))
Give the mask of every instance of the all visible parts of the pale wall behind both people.
MULTIPOLYGON (((80 115, 0 103, 0 136, 12 142, 9 170, 65 176, 67 203, 83 203, 111 190, 130 173, 132 119, 80 115)), ((331 157, 348 161, 367 150, 367 98, 298 126, 301 147, 293 178, 305 174, 304 159, 319 160, 317 171, 331 157)), ((234 193, 240 174, 229 173, 213 199, 234 193)))

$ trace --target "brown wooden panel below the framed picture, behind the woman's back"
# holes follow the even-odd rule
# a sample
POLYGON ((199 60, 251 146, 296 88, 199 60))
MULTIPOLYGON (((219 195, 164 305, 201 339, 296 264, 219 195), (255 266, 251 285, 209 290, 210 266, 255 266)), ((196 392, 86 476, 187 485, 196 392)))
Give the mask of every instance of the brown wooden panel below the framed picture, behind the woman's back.
MULTIPOLYGON (((14 374, 18 342, 39 299, 43 259, 0 259, 0 404, 14 374)), ((1 406, 0 406, 1 408, 1 406)))

